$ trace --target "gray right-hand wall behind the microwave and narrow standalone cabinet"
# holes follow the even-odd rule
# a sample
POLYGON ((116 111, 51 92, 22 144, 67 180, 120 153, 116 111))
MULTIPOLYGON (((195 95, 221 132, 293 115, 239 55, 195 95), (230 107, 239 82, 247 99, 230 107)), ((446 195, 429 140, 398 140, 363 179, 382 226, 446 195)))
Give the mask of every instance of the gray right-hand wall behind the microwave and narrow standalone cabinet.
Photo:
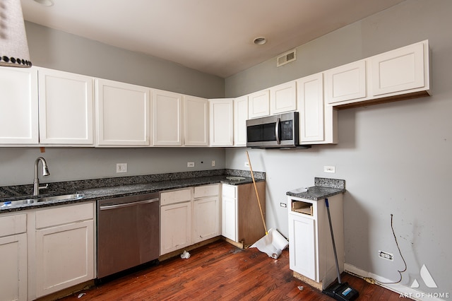
MULTIPOLYGON (((314 177, 346 180, 345 262, 398 281, 403 270, 391 232, 408 264, 401 284, 451 293, 452 277, 452 1, 407 0, 297 48, 297 61, 276 68, 269 60, 226 79, 235 97, 340 66, 373 54, 429 40, 432 96, 341 110, 339 143, 299 151, 250 150, 254 170, 267 174, 267 223, 287 235, 286 191, 311 186, 314 177), (335 165, 335 174, 323 172, 335 165), (395 255, 379 259, 378 251, 395 255), (420 278, 425 264, 438 288, 420 278)), ((226 167, 245 169, 244 149, 227 149, 226 167)))

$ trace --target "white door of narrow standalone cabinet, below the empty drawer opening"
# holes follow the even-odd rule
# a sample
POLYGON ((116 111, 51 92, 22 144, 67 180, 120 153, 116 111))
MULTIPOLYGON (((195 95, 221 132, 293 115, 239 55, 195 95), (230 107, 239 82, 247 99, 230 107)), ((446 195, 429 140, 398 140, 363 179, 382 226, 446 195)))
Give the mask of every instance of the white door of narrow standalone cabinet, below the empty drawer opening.
POLYGON ((316 233, 313 218, 289 214, 289 265, 314 281, 319 281, 316 273, 316 233))

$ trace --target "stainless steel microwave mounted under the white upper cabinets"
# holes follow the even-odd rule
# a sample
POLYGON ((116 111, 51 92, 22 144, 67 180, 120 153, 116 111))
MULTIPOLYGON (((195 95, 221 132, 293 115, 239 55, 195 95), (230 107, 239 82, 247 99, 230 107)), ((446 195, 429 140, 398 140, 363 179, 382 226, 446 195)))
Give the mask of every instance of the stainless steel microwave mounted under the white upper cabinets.
MULTIPOLYGON (((298 112, 246 120, 246 146, 251 148, 297 148, 298 112)), ((302 146, 309 148, 310 146, 302 146)))

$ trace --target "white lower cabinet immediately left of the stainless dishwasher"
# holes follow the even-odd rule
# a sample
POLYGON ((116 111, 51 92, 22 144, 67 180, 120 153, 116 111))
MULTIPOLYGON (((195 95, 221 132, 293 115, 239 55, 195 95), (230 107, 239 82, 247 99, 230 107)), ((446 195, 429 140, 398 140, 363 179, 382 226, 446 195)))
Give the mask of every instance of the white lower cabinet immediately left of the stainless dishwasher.
POLYGON ((94 204, 36 211, 35 297, 94 276, 94 204))

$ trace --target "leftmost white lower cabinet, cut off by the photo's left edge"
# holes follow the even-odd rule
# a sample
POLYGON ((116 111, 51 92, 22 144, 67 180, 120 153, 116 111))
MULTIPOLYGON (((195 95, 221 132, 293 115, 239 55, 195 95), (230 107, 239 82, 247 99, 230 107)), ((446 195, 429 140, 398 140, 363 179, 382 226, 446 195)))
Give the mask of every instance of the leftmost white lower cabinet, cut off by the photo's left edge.
POLYGON ((27 215, 0 216, 0 299, 27 300, 27 215))

